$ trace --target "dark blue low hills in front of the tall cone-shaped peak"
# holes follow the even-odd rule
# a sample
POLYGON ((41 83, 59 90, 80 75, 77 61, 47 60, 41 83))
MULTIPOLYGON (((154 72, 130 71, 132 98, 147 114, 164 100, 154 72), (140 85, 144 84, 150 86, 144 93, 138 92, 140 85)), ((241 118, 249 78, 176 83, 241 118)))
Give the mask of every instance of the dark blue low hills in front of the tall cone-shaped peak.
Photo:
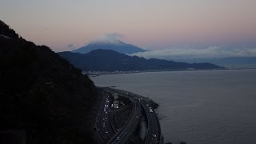
POLYGON ((221 69, 223 67, 210 63, 186 63, 166 61, 156 58, 139 58, 120 54, 114 50, 93 50, 87 54, 71 52, 58 53, 70 63, 85 71, 114 70, 186 70, 186 69, 221 69))

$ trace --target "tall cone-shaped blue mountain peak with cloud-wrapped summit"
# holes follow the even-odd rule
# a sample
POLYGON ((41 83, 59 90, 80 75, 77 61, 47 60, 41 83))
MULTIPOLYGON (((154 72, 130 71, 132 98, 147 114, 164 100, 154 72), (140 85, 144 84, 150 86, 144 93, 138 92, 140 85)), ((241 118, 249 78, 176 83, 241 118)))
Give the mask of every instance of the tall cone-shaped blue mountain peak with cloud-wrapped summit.
POLYGON ((98 50, 98 49, 114 50, 122 54, 134 54, 134 53, 146 51, 137 46, 126 44, 125 42, 121 42, 117 38, 102 37, 102 38, 95 39, 94 41, 90 42, 88 45, 82 46, 77 50, 72 50, 72 52, 86 54, 92 50, 98 50))

